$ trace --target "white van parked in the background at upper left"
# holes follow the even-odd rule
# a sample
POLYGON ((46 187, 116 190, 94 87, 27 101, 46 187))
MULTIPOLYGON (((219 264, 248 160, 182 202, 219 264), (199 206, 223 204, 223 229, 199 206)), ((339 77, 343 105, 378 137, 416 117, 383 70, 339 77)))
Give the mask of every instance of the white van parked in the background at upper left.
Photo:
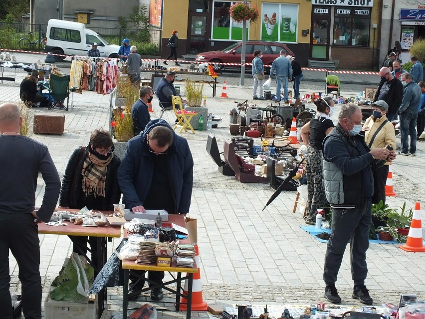
MULTIPOLYGON (((96 32, 87 29, 84 23, 50 19, 47 24, 44 50, 56 54, 87 55, 93 42, 102 57, 118 57, 119 45, 110 44, 96 32)), ((61 61, 64 56, 54 56, 61 61)))

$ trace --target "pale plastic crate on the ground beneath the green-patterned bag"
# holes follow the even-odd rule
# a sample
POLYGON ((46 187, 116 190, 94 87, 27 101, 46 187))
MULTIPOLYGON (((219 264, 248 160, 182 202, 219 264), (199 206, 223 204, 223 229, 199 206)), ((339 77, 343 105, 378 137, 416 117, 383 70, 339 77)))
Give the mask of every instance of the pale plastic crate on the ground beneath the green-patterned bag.
MULTIPOLYGON (((52 289, 51 287, 50 289, 52 289)), ((73 304, 50 299, 50 292, 44 301, 45 319, 97 319, 97 294, 93 304, 73 304)))

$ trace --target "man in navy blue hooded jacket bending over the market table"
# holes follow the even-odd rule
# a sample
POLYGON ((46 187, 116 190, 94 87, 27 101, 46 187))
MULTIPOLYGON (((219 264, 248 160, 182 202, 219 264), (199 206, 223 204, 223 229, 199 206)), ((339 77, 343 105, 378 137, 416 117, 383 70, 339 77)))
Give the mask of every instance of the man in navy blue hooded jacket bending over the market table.
MULTIPOLYGON (((146 209, 164 209, 169 214, 189 213, 193 166, 188 141, 178 136, 166 121, 150 121, 144 131, 128 141, 118 169, 123 203, 135 213, 146 209)), ((129 300, 136 300, 144 282, 130 279, 129 300)), ((162 283, 164 272, 150 271, 148 279, 162 283)), ((163 297, 161 288, 151 290, 152 300, 159 301, 163 297)))

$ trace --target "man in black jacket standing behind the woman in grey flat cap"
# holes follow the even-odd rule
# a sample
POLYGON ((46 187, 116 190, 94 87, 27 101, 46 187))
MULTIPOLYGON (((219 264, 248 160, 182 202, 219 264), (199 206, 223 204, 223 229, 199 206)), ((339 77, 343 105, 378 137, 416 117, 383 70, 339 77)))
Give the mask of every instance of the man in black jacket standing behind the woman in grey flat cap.
POLYGON ((381 68, 379 76, 381 77, 381 82, 376 91, 374 102, 378 100, 387 102, 387 119, 391 122, 397 120, 397 111, 403 99, 403 84, 391 75, 391 70, 388 67, 381 68))

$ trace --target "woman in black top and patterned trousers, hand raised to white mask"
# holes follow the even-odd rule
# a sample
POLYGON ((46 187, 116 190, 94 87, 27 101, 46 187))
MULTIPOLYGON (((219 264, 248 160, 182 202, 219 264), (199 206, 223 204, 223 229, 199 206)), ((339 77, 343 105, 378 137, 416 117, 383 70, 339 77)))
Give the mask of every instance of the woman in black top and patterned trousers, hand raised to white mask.
POLYGON ((308 200, 305 222, 316 223, 317 209, 328 210, 329 203, 323 189, 322 143, 334 127, 331 116, 334 113, 334 101, 331 97, 319 98, 316 115, 301 128, 301 137, 307 148, 305 173, 307 176, 308 200))

